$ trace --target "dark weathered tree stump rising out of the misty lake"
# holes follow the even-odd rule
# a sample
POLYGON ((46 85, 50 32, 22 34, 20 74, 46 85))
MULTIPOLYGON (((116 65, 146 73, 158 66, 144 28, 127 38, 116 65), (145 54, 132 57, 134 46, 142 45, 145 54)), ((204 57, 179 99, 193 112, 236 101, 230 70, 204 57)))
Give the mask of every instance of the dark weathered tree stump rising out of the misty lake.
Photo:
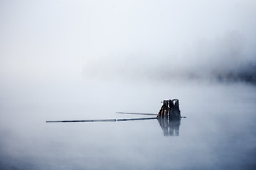
POLYGON ((171 120, 181 119, 178 99, 164 100, 157 118, 169 118, 171 120))

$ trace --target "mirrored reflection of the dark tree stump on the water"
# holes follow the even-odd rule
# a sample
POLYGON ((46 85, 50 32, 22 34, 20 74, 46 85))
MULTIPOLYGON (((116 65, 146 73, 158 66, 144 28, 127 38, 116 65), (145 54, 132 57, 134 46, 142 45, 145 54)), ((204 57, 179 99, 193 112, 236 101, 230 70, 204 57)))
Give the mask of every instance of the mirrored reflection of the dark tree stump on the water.
POLYGON ((159 125, 164 131, 164 136, 178 136, 181 119, 170 120, 169 118, 158 118, 159 125))

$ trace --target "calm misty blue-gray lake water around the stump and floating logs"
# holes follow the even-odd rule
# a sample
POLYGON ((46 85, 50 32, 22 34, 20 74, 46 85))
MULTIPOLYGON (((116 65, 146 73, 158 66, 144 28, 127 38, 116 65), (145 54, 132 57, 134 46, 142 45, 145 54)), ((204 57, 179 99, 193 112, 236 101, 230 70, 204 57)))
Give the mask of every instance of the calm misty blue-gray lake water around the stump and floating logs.
POLYGON ((255 169, 256 89, 247 84, 83 81, 1 85, 1 169, 255 169), (179 134, 148 118, 180 100, 179 134))

